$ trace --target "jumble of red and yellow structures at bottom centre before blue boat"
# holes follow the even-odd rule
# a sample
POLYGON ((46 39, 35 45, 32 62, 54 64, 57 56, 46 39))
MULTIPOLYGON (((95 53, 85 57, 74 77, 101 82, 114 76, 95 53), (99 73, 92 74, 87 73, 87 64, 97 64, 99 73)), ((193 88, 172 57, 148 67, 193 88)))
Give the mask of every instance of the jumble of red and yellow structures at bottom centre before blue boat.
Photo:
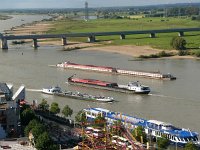
MULTIPOLYGON (((123 124, 103 127, 94 123, 82 124, 82 141, 74 148, 77 150, 145 150, 149 146, 138 142, 123 124)), ((141 138, 142 140, 142 138, 141 138)))

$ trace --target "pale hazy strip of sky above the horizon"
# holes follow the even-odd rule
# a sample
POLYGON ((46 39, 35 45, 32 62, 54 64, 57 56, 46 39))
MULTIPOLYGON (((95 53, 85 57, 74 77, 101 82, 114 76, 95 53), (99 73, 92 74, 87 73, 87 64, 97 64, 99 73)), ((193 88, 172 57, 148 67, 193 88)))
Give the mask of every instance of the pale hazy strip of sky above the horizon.
MULTIPOLYGON (((89 7, 195 3, 200 0, 87 0, 89 7)), ((0 0, 2 8, 82 8, 85 0, 0 0)))

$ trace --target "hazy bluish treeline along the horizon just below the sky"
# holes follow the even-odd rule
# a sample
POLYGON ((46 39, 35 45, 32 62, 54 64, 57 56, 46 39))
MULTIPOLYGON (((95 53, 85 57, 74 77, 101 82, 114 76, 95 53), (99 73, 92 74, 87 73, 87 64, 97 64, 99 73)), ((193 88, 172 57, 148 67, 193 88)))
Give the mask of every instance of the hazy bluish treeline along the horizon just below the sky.
MULTIPOLYGON (((177 3, 177 4, 162 4, 162 5, 149 5, 149 6, 127 6, 127 7, 99 7, 91 8, 89 3, 89 12, 94 13, 97 11, 109 11, 109 12, 146 12, 150 11, 163 11, 169 9, 169 15, 181 13, 182 15, 197 14, 197 8, 200 7, 200 3, 177 3), (180 8, 180 10, 179 10, 180 8), (192 8, 192 9, 191 9, 192 8)), ((5 13, 71 13, 71 12, 85 12, 85 8, 40 8, 40 9, 1 9, 0 12, 5 13)))

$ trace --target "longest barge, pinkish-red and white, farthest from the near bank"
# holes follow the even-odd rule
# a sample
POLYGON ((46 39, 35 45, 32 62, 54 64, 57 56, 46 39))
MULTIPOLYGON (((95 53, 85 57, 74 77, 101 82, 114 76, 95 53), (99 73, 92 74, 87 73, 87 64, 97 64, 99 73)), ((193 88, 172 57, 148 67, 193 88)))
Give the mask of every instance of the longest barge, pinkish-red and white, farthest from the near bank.
POLYGON ((97 72, 102 72, 102 73, 111 73, 111 74, 118 74, 118 75, 132 75, 132 76, 152 78, 152 79, 176 80, 176 77, 174 77, 170 73, 162 74, 160 72, 131 71, 131 70, 114 68, 114 67, 106 67, 106 66, 82 65, 82 64, 71 63, 69 61, 58 63, 56 66, 60 68, 67 68, 67 69, 97 71, 97 72))

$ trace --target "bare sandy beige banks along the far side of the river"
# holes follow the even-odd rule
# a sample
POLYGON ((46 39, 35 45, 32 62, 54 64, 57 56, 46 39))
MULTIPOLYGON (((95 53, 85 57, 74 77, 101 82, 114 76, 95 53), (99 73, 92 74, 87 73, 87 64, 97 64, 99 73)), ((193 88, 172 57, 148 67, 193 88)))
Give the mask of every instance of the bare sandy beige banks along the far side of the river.
MULTIPOLYGON (((45 34, 50 29, 53 29, 54 26, 48 21, 37 21, 33 23, 23 24, 21 26, 13 27, 10 30, 6 30, 5 33, 8 35, 24 35, 24 34, 45 34)), ((30 40, 26 40, 29 42, 30 40)), ((61 40, 59 39, 42 39, 39 40, 39 45, 61 45, 61 40)), ((68 41, 67 45, 64 46, 63 50, 92 50, 92 51, 105 51, 109 53, 119 53, 127 56, 139 57, 140 55, 152 55, 158 54, 161 51, 165 51, 167 53, 177 53, 177 50, 161 50, 155 49, 151 46, 136 46, 136 45, 120 45, 113 46, 107 45, 112 43, 112 41, 107 41, 106 43, 88 43, 88 42, 77 42, 77 41, 68 41)), ((174 55, 171 57, 162 57, 158 59, 198 59, 198 57, 186 55, 186 56, 178 56, 174 55)))

